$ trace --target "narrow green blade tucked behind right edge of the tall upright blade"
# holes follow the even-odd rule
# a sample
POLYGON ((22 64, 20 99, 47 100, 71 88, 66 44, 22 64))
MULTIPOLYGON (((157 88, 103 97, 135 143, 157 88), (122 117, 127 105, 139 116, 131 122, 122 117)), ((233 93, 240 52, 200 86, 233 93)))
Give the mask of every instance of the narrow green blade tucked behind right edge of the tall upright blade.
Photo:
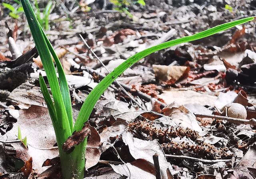
MULTIPOLYGON (((42 27, 41 27, 41 29, 42 29, 42 27)), ((60 60, 58 58, 58 55, 55 53, 54 48, 52 47, 52 44, 48 40, 48 38, 47 38, 47 36, 46 36, 46 34, 44 33, 43 30, 42 30, 42 33, 44 34, 44 39, 45 39, 45 41, 48 45, 48 48, 49 48, 49 50, 52 54, 52 57, 54 58, 54 61, 56 63, 56 67, 58 69, 62 98, 63 98, 64 105, 65 105, 65 108, 66 108, 66 112, 67 112, 67 115, 68 115, 68 122, 69 122, 69 125, 70 125, 70 129, 72 131, 72 129, 73 129, 73 114, 72 114, 72 104, 71 104, 68 82, 66 80, 66 76, 65 76, 64 70, 62 68, 62 65, 60 63, 60 60)))

